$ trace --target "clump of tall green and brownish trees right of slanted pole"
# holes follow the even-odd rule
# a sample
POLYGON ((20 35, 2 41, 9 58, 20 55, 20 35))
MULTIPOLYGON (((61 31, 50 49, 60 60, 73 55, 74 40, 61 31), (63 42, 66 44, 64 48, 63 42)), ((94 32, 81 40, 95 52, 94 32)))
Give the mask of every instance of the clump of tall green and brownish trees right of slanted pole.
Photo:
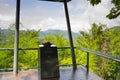
MULTIPOLYGON (((118 29, 117 29, 118 30, 118 29)), ((80 47, 89 48, 91 50, 100 51, 103 53, 109 53, 114 55, 119 55, 119 31, 112 31, 107 29, 105 25, 102 24, 92 24, 92 28, 88 33, 80 31, 81 35, 77 39, 77 44, 80 47), (113 33, 114 32, 114 33, 113 33), (116 33, 116 34, 115 34, 116 33), (114 39, 112 39, 114 36, 114 39), (111 42, 112 45, 111 45, 111 42), (115 44, 117 42, 117 45, 115 44), (114 46, 113 46, 114 45, 114 46), (113 47, 118 46, 117 50, 113 47), (113 53, 113 51, 115 53, 113 53), (118 51, 118 52, 116 52, 118 51)), ((82 55, 82 54, 81 54, 82 55)), ((85 56, 86 54, 84 54, 85 56)), ((83 57, 84 57, 83 56, 83 57)), ((82 56, 81 56, 82 57, 82 56)), ((84 58, 82 58, 84 59, 84 58)), ((81 62, 85 62, 81 60, 81 62)), ((83 63, 82 62, 82 63, 83 63)), ((98 57, 96 55, 90 55, 90 68, 96 74, 100 75, 104 79, 115 80, 118 76, 118 63, 111 61, 109 59, 98 57), (112 74, 114 73, 114 75, 112 74)))

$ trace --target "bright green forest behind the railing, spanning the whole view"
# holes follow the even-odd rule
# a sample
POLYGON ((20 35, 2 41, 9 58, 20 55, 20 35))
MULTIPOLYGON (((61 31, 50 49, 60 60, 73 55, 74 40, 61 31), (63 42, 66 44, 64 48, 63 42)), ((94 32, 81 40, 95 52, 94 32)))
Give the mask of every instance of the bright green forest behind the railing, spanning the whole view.
MULTIPOLYGON (((40 38, 41 30, 20 30, 19 48, 39 48, 43 42, 52 42, 57 47, 68 47, 69 40, 62 34, 54 33, 40 38)), ((79 31, 74 39, 75 47, 100 51, 120 58, 120 26, 108 28, 104 24, 91 24, 91 29, 79 31)), ((14 29, 0 29, 0 48, 14 48, 14 29)), ((0 70, 13 67, 13 50, 0 50, 0 70)), ((72 64, 70 49, 58 49, 59 64, 72 64)), ((86 65, 86 52, 75 49, 78 66, 86 65)), ((105 80, 117 80, 120 76, 120 63, 90 54, 90 71, 105 80)), ((38 50, 19 50, 19 69, 32 69, 38 66, 38 50)))

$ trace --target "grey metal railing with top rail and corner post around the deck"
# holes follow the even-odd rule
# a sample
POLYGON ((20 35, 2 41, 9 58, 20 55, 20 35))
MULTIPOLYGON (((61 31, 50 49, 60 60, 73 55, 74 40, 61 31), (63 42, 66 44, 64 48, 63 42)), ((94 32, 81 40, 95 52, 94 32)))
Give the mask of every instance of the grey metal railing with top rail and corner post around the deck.
MULTIPOLYGON (((60 49, 70 49, 70 47, 58 47, 57 49, 58 50, 60 50, 60 49)), ((120 64, 120 58, 117 58, 117 57, 112 56, 112 55, 107 54, 107 53, 102 53, 102 52, 98 52, 98 51, 88 50, 86 48, 81 48, 81 47, 74 47, 74 49, 77 49, 77 50, 80 50, 80 51, 84 51, 84 52, 87 53, 87 55, 86 55, 87 56, 86 57, 86 73, 87 73, 87 75, 89 74, 89 64, 90 64, 89 63, 89 59, 90 59, 89 55, 90 54, 94 54, 94 55, 98 55, 100 57, 108 58, 108 59, 116 61, 116 62, 118 62, 120 64)), ((1 50, 14 50, 14 48, 0 48, 0 51, 1 50)), ((19 50, 38 50, 39 51, 39 48, 19 48, 19 50)))

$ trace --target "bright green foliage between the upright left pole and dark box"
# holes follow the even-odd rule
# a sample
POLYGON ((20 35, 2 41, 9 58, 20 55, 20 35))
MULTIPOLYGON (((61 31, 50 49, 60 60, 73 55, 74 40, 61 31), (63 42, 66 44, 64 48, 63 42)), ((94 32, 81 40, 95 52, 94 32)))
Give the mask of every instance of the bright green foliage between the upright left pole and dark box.
MULTIPOLYGON (((20 48, 38 48, 41 41, 38 31, 21 30, 19 38, 20 48)), ((31 67, 38 65, 38 51, 36 50, 20 50, 19 51, 19 67, 31 67)))

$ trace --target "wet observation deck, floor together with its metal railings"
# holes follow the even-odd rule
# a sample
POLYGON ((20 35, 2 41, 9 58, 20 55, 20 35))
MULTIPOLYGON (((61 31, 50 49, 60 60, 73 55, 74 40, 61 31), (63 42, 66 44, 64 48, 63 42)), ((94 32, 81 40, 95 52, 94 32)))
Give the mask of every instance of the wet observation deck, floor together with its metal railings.
MULTIPOLYGON (((60 54, 60 51, 69 50, 70 47, 58 47, 58 55, 60 54)), ((117 57, 114 57, 112 55, 108 55, 101 52, 96 52, 92 50, 88 50, 85 48, 77 48, 74 47, 74 49, 81 50, 86 52, 86 64, 85 66, 83 64, 77 65, 77 69, 73 70, 72 64, 60 64, 60 78, 51 78, 51 79, 42 79, 42 80, 104 80, 91 70, 90 68, 90 61, 89 61, 89 54, 97 55, 100 57, 108 58, 110 60, 116 61, 120 63, 120 59, 117 57)), ((0 48, 0 51, 6 51, 6 50, 14 50, 13 48, 0 48)), ((19 48, 19 50, 32 50, 32 51, 38 51, 39 48, 19 48)), ((28 53, 29 54, 29 53, 28 53)), ((70 57, 70 56, 67 56, 70 57)), ((76 57, 77 58, 77 57, 76 57)), ((36 61, 37 62, 37 61, 36 61)), ((37 66, 37 65, 36 65, 37 66)), ((13 71, 13 68, 6 68, 10 71, 13 71)), ((20 69, 20 68, 19 68, 20 69)), ((4 70, 5 71, 5 70, 4 70)), ((120 72, 118 71, 118 74, 120 72)), ((17 75, 14 75, 13 72, 0 72, 0 80, 41 80, 40 74, 38 73, 38 67, 31 67, 28 69, 21 68, 19 70, 17 75)))

